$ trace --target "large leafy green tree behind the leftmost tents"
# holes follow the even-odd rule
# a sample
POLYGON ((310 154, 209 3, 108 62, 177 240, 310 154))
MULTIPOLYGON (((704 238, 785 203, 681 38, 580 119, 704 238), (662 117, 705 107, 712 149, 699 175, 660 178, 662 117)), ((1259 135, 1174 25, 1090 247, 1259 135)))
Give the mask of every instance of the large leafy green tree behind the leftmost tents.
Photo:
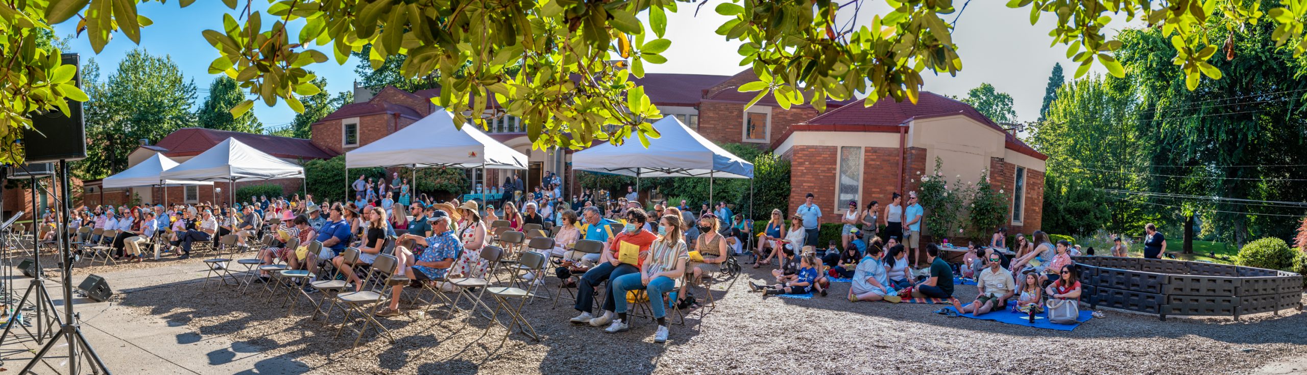
POLYGON ((195 119, 195 82, 169 56, 142 48, 127 52, 118 72, 99 80, 94 59, 82 69, 86 158, 76 162, 81 179, 98 179, 127 169, 127 155, 139 140, 157 142, 195 119))

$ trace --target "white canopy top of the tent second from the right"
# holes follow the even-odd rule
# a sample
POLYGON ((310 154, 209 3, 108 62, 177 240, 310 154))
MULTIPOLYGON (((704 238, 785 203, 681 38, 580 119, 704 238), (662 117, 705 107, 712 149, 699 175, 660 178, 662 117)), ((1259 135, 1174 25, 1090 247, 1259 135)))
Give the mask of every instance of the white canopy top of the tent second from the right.
POLYGON ((345 153, 345 167, 459 167, 525 170, 527 155, 495 141, 476 125, 454 125, 454 115, 430 116, 345 153))

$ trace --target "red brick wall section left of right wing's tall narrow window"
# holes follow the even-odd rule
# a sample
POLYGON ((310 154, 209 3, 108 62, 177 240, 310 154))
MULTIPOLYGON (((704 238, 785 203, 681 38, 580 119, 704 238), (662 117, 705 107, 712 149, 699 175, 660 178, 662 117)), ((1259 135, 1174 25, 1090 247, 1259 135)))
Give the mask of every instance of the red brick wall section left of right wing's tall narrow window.
MULTIPOLYGON (((702 119, 702 118, 701 118, 702 119)), ((835 205, 835 166, 838 161, 836 146, 795 146, 789 153, 789 209, 804 204, 808 193, 816 197, 813 203, 822 209, 821 222, 839 222, 839 217, 830 214, 835 205)))

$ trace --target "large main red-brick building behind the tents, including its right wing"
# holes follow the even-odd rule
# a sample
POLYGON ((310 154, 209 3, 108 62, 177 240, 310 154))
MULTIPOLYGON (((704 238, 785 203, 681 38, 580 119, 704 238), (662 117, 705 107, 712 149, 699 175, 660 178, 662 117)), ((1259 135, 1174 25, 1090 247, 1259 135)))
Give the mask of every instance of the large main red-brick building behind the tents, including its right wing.
MULTIPOLYGON (((1019 233, 1039 229, 1047 157, 966 103, 921 93, 916 105, 889 99, 864 107, 830 101, 827 112, 819 114, 806 103, 782 108, 766 95, 745 110, 754 94, 737 88, 757 78, 753 71, 744 71, 733 76, 648 73, 634 81, 663 114, 677 116, 706 139, 755 145, 791 159, 791 210, 813 192, 827 210, 823 220, 838 222, 851 199, 887 204, 891 193, 915 189, 918 174, 933 171, 938 157, 946 175, 962 175, 963 180, 989 170, 991 182, 1004 189, 1009 205, 1021 208, 1010 216, 1009 227, 1019 233)), ((356 103, 312 125, 312 144, 337 154, 366 145, 431 114, 430 98, 435 95, 439 89, 356 88, 356 103)), ((498 103, 491 99, 490 106, 498 103)), ((565 193, 574 191, 566 187, 575 180, 569 169, 571 150, 532 150, 525 124, 514 116, 495 119, 489 127, 493 139, 527 154, 531 162, 527 171, 489 170, 489 183, 520 174, 532 187, 553 171, 565 176, 565 193)), ((482 180, 480 170, 468 171, 468 176, 482 180)))

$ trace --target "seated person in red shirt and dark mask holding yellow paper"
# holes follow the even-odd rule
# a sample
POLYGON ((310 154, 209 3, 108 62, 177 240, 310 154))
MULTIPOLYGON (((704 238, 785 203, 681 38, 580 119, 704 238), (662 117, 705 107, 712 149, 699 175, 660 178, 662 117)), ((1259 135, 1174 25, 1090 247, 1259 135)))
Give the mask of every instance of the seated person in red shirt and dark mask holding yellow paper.
POLYGON ((657 239, 656 234, 644 230, 644 222, 647 221, 648 216, 644 214, 643 209, 630 208, 626 210, 626 226, 622 233, 613 236, 608 251, 600 255, 599 265, 587 270, 580 277, 580 282, 578 282, 576 304, 572 308, 580 311, 580 315, 572 318, 571 323, 589 323, 592 327, 604 327, 613 321, 616 316, 613 311, 617 310, 617 302, 613 298, 626 298, 626 295, 613 297, 613 284, 609 282, 604 289, 604 295, 608 297, 604 298, 604 314, 596 318, 591 315, 595 286, 605 280, 640 272, 639 267, 644 260, 644 252, 657 239))

